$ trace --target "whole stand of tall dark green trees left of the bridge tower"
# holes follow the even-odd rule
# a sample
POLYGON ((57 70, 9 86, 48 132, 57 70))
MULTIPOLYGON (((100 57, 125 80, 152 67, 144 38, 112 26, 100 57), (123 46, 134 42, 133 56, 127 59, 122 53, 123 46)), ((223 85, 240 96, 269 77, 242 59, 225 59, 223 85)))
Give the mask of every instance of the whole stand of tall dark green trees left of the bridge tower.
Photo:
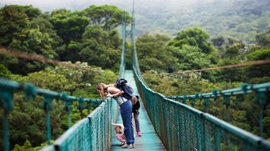
MULTIPOLYGON (((120 64, 120 36, 116 27, 131 17, 115 6, 89 6, 41 13, 32 6, 4 6, 0 9, 0 45, 60 61, 89 62, 117 71, 120 64)), ((0 55, 12 73, 27 75, 48 67, 42 62, 0 55)))

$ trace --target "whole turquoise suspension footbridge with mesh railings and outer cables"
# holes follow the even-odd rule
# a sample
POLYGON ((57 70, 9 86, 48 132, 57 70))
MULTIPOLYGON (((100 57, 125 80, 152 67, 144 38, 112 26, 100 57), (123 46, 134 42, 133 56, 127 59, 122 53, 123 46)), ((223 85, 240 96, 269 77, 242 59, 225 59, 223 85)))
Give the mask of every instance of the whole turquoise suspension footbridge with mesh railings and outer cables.
MULTIPOLYGON (((132 150, 270 150, 270 142, 260 136, 251 134, 224 120, 220 120, 209 113, 193 108, 193 102, 203 100, 204 106, 210 99, 224 97, 229 101, 231 96, 254 93, 259 106, 259 131, 264 131, 262 110, 266 106, 266 93, 270 83, 260 85, 243 85, 235 89, 213 91, 207 94, 166 97, 150 89, 143 81, 135 45, 135 17, 132 12, 131 30, 127 34, 127 24, 122 24, 122 54, 119 78, 126 78, 134 88, 134 93, 140 95, 141 104, 139 119, 142 137, 136 137, 135 148, 132 150), (132 67, 126 68, 125 52, 126 39, 130 36, 132 43, 132 67), (173 99, 181 100, 174 101, 173 99), (190 101, 191 106, 186 105, 190 101)), ((9 80, 0 80, 0 99, 3 100, 4 119, 4 150, 10 150, 8 141, 8 113, 13 109, 13 92, 23 91, 28 98, 36 95, 44 96, 44 110, 46 112, 47 141, 51 140, 50 111, 53 99, 65 102, 68 111, 68 127, 70 127, 70 106, 72 101, 79 105, 86 102, 95 106, 87 117, 70 127, 53 144, 42 150, 130 150, 118 147, 114 138, 111 119, 121 123, 121 117, 116 101, 113 99, 83 99, 68 96, 62 92, 41 89, 30 84, 21 84, 9 80)))

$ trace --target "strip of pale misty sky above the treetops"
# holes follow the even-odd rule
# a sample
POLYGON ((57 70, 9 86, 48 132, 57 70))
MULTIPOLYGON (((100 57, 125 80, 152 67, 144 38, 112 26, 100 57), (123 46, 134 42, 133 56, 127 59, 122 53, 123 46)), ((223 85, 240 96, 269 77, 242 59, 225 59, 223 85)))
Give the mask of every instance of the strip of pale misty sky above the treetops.
MULTIPOLYGON (((188 6, 198 3, 205 3, 209 1, 216 0, 135 0, 135 10, 136 6, 147 6, 147 7, 178 7, 178 6, 188 6)), ((228 0, 226 0, 228 1, 228 0)), ((82 10, 87 8, 92 4, 113 4, 124 10, 132 10, 133 0, 0 0, 0 6, 18 4, 18 5, 32 5, 43 11, 51 11, 57 8, 67 8, 70 10, 82 10)))

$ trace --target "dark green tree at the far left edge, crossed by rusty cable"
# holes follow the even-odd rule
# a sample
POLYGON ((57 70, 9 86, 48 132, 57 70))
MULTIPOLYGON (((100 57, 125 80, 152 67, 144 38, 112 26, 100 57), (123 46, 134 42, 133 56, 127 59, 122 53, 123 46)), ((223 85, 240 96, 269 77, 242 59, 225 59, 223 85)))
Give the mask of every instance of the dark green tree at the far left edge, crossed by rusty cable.
MULTIPOLYGON (((4 6, 0 10, 0 44, 23 52, 53 58, 53 48, 59 41, 51 23, 44 20, 38 8, 32 6, 4 6)), ((0 56, 2 62, 13 73, 26 74, 44 69, 46 64, 0 56)))

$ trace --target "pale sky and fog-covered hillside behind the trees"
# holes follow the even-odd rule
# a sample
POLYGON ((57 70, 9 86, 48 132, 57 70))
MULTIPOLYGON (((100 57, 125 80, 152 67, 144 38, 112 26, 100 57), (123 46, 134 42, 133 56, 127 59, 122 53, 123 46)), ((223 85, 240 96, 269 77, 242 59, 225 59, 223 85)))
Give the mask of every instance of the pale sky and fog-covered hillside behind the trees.
MULTIPOLYGON (((2 0, 6 4, 32 5, 43 11, 67 8, 82 10, 95 4, 111 4, 131 12, 132 0, 2 0)), ((255 43, 255 35, 270 27, 269 0, 136 0, 136 35, 166 34, 174 37, 186 27, 202 27, 211 37, 238 38, 244 43, 255 43)))

